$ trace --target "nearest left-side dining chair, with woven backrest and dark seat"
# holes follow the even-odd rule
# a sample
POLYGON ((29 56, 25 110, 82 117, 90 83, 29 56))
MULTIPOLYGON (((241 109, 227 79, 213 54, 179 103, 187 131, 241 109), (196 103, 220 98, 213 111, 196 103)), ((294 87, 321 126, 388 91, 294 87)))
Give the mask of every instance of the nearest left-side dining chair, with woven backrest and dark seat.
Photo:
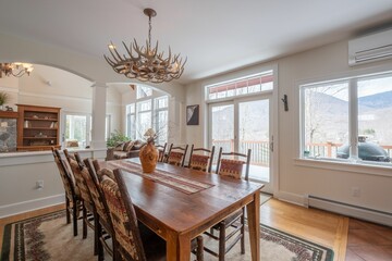
MULTIPOLYGON (((114 181, 101 176, 100 187, 110 210, 117 251, 123 260, 166 260, 166 241, 137 221, 132 199, 127 192, 121 170, 113 171, 114 181)), ((203 236, 192 240, 198 261, 203 261, 203 236)))

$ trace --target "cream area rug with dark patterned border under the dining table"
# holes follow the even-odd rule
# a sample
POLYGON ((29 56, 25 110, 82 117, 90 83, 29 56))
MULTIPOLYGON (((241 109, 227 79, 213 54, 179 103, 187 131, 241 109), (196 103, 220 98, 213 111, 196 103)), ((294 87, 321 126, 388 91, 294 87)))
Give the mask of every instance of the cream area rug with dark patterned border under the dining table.
MULTIPOLYGON (((78 228, 82 228, 79 223, 78 228)), ((333 251, 281 231, 260 225, 261 260, 271 261, 332 261, 333 251)), ((69 261, 97 260, 93 254, 93 231, 82 239, 82 231, 73 237, 72 224, 65 224, 65 211, 15 222, 5 225, 1 261, 69 261)), ((250 248, 246 235, 246 253, 240 253, 240 244, 226 254, 226 260, 249 261, 250 248)), ((205 245, 217 246, 206 238, 205 245)), ((193 258, 194 259, 194 258, 193 258)), ((111 260, 106 257, 106 260, 111 260)), ((218 260, 205 252, 205 260, 218 260)))

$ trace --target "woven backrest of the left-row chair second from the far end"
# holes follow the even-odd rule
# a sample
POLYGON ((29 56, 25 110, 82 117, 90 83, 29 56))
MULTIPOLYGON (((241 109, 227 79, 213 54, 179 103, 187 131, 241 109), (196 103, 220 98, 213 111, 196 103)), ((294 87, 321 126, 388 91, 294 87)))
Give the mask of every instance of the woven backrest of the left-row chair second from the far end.
MULTIPOLYGON (((64 154, 66 157, 66 160, 70 163, 71 170, 73 172, 73 175, 75 177, 75 183, 76 186, 78 187, 79 191, 81 191, 81 198, 89 204, 93 204, 93 199, 91 196, 89 194, 88 187, 87 187, 87 183, 84 179, 83 175, 82 175, 82 171, 84 169, 84 165, 79 164, 79 162, 77 162, 76 157, 79 158, 78 153, 75 152, 74 157, 70 156, 68 153, 68 150, 64 149, 64 154)), ((81 158, 79 158, 81 159, 81 158)), ((87 170, 86 170, 87 171, 87 170)))

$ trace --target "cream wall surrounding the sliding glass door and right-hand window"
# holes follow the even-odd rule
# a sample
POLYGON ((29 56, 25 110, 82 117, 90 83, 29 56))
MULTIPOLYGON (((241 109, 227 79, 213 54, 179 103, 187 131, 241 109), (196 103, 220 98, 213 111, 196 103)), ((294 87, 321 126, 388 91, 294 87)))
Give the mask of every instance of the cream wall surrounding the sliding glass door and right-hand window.
POLYGON ((186 86, 186 105, 200 104, 200 125, 183 126, 186 142, 204 145, 207 140, 206 104, 204 86, 236 76, 249 75, 262 66, 278 64, 278 99, 287 95, 290 110, 283 110, 279 102, 279 181, 274 196, 304 204, 307 195, 323 197, 354 206, 392 213, 392 171, 391 169, 352 166, 350 164, 321 164, 298 160, 299 154, 299 105, 298 85, 313 78, 333 78, 353 71, 391 70, 391 60, 358 67, 347 64, 347 41, 340 41, 321 48, 297 53, 265 64, 237 70, 220 76, 210 77, 186 86), (310 165, 311 164, 311 165, 310 165), (352 188, 362 190, 360 197, 352 196, 352 188))

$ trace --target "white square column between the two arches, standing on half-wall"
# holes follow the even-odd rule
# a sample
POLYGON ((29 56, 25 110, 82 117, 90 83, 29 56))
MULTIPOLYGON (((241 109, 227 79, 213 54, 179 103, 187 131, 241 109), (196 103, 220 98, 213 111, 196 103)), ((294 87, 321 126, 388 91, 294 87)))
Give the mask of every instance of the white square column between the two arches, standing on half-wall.
POLYGON ((95 83, 93 86, 93 127, 91 148, 106 149, 106 99, 107 86, 102 83, 95 83))

